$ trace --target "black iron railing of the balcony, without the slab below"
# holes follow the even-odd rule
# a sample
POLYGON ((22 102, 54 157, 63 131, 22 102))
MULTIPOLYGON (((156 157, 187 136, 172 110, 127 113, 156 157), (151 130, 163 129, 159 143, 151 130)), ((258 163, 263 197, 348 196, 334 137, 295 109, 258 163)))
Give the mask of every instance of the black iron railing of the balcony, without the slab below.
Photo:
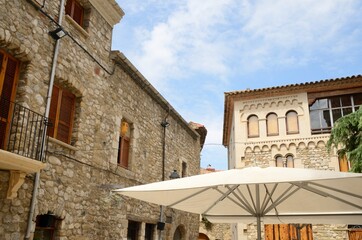
POLYGON ((0 96, 0 148, 38 161, 45 160, 47 119, 0 96))

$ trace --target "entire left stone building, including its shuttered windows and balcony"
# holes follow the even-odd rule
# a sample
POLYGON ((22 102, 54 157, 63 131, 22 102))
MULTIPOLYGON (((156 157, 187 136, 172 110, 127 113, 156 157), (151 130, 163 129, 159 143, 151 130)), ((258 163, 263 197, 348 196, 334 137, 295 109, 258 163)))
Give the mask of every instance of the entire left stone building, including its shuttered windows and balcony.
POLYGON ((197 238, 198 215, 111 191, 198 174, 203 144, 111 51, 123 15, 115 0, 0 0, 1 240, 197 238))

